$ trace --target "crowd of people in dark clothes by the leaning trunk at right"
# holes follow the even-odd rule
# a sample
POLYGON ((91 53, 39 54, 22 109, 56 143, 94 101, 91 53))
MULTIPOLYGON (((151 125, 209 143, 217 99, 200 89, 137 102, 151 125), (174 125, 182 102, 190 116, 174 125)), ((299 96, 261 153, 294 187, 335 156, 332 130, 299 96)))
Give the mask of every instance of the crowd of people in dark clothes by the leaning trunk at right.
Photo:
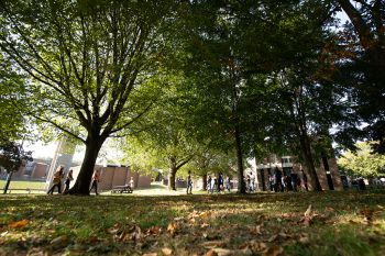
POLYGON ((274 192, 308 191, 308 178, 304 170, 300 170, 300 175, 295 172, 285 175, 278 168, 275 168, 274 172, 268 175, 268 190, 274 192))

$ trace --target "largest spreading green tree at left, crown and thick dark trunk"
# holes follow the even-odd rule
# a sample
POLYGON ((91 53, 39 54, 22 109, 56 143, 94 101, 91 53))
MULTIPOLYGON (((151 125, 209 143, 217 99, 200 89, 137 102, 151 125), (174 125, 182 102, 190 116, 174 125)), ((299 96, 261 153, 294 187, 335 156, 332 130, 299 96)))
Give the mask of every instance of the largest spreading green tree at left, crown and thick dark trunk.
POLYGON ((30 114, 86 145, 68 191, 89 194, 107 137, 153 105, 173 1, 4 1, 0 47, 29 75, 30 114), (148 94, 151 94, 148 99, 148 94))

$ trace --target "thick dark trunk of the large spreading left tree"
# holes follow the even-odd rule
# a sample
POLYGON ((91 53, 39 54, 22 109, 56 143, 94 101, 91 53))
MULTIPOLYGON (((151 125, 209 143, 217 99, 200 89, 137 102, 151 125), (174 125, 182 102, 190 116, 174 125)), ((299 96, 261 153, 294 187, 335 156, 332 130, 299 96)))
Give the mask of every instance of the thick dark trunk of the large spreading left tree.
POLYGON ((73 188, 67 193, 89 196, 89 186, 91 183, 95 164, 98 158, 99 151, 105 140, 100 136, 94 136, 86 142, 86 153, 82 159, 79 175, 73 188))

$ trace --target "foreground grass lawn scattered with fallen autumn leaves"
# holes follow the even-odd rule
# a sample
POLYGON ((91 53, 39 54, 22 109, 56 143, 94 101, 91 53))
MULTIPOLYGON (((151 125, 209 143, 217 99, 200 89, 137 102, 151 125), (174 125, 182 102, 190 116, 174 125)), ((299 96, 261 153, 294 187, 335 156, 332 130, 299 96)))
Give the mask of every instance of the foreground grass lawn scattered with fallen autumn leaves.
POLYGON ((0 196, 0 255, 348 256, 384 251, 381 190, 0 196))

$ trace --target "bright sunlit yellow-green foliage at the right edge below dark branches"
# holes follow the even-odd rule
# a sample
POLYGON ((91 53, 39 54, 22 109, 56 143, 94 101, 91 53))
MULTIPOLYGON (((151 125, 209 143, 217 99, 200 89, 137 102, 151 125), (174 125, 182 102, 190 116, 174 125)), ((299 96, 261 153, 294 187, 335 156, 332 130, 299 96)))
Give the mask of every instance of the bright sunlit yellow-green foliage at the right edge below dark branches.
POLYGON ((385 175, 385 156, 372 154, 371 144, 373 142, 361 142, 356 144, 358 151, 342 154, 338 159, 342 170, 355 177, 373 178, 385 175))

